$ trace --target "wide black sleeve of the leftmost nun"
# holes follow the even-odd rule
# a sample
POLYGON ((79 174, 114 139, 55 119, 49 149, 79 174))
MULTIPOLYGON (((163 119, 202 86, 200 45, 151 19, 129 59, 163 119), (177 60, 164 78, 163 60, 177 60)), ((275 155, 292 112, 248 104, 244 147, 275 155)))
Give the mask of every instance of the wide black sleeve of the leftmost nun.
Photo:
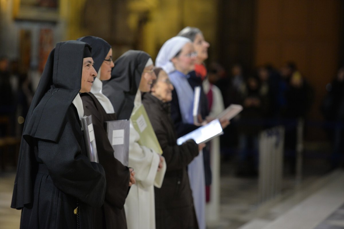
POLYGON ((83 138, 72 107, 68 108, 57 143, 39 140, 38 157, 45 164, 54 185, 62 192, 92 207, 104 203, 106 180, 103 167, 81 154, 83 138))

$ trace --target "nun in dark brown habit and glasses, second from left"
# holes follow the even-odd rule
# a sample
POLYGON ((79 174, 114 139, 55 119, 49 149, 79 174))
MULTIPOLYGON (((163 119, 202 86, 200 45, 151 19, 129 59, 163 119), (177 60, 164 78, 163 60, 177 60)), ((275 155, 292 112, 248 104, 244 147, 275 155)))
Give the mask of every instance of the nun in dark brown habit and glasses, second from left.
POLYGON ((106 193, 104 205, 94 211, 94 222, 98 228, 127 228, 124 203, 129 186, 135 183, 134 172, 114 157, 114 150, 107 137, 104 123, 116 120, 116 113, 110 100, 102 93, 102 80, 111 77, 112 48, 100 37, 86 36, 78 41, 92 46, 94 68, 98 72, 91 92, 80 94, 83 101, 84 114, 92 115, 93 130, 97 143, 99 163, 106 174, 106 193), (131 170, 131 171, 130 171, 131 170))

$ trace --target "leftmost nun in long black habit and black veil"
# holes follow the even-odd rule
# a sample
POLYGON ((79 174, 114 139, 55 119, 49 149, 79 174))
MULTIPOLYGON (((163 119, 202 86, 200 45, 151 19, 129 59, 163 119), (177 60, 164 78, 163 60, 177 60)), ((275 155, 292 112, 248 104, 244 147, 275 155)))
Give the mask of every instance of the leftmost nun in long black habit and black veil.
POLYGON ((91 47, 79 41, 51 51, 25 120, 12 208, 20 228, 95 228, 92 208, 104 202, 103 167, 86 156, 79 92, 96 76, 91 47))

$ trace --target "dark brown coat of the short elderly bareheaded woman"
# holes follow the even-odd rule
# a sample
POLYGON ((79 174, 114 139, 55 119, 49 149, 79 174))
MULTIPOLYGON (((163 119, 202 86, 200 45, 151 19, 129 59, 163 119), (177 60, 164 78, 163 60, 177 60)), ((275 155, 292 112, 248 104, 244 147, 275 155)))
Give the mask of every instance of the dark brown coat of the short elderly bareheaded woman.
POLYGON ((156 228, 198 228, 187 165, 198 155, 194 140, 178 146, 170 116, 170 104, 153 95, 143 95, 142 103, 157 135, 166 161, 161 188, 155 188, 156 228))

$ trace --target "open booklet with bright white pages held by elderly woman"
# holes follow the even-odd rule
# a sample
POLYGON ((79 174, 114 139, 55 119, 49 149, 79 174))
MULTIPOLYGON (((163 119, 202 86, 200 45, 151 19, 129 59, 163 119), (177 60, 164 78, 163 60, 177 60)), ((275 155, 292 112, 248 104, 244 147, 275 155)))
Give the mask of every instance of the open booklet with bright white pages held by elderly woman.
POLYGON ((223 132, 220 121, 218 119, 215 119, 210 123, 191 131, 189 134, 186 134, 178 138, 177 144, 182 145, 185 141, 189 139, 195 140, 197 144, 206 143, 222 134, 223 132))

